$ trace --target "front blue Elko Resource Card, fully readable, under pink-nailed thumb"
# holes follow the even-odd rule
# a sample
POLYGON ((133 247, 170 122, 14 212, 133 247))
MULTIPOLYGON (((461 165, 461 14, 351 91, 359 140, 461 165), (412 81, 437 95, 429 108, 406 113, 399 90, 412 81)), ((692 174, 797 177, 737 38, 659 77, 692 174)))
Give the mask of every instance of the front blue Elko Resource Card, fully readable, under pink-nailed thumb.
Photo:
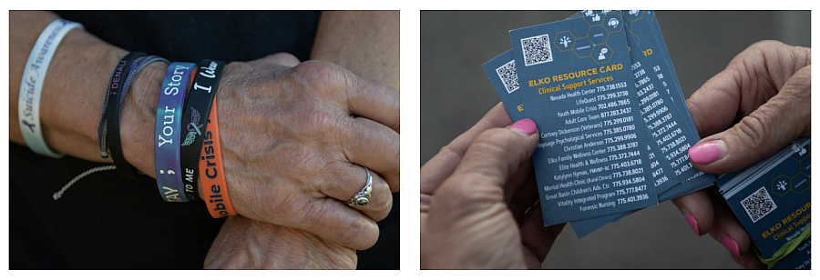
POLYGON ((610 13, 510 31, 518 95, 540 132, 545 225, 658 204, 622 22, 610 13))

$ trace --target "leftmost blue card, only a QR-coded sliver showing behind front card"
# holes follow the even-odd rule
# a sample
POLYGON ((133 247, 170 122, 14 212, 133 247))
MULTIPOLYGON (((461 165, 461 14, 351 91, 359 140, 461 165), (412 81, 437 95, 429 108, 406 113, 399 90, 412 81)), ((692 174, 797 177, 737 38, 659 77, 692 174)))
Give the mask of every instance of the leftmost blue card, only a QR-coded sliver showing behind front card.
POLYGON ((516 74, 516 61, 513 59, 512 50, 496 56, 496 58, 481 66, 484 68, 484 72, 487 73, 487 78, 493 84, 493 88, 496 89, 498 97, 501 98, 501 103, 507 108, 507 114, 513 122, 524 118, 524 113, 521 113, 524 110, 524 105, 521 105, 518 95, 514 95, 518 91, 518 75, 516 74))

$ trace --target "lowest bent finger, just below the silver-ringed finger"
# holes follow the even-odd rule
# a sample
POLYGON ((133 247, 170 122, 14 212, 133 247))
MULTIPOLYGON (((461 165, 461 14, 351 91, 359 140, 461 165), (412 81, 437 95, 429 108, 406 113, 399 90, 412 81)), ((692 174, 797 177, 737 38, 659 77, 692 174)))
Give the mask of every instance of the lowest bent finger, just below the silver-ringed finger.
POLYGON ((305 207, 294 227, 338 245, 366 250, 379 239, 375 221, 333 198, 317 199, 305 207))

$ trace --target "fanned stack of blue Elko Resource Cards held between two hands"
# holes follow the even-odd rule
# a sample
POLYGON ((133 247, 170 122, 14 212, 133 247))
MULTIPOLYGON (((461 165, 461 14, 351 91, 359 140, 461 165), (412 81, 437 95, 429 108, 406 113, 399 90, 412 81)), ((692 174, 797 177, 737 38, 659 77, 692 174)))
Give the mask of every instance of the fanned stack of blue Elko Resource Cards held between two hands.
POLYGON ((513 121, 530 118, 544 225, 583 237, 714 184, 692 167, 700 137, 652 11, 582 11, 509 32, 484 64, 513 121))

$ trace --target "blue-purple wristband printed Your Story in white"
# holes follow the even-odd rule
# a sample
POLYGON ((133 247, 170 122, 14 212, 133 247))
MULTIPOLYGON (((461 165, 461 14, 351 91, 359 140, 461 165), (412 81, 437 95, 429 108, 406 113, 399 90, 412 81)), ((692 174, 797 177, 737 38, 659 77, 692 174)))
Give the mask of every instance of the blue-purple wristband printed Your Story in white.
POLYGON ((188 202, 179 166, 179 135, 185 92, 190 73, 196 66, 192 63, 170 64, 159 93, 157 125, 154 128, 154 168, 159 194, 166 202, 188 202))

